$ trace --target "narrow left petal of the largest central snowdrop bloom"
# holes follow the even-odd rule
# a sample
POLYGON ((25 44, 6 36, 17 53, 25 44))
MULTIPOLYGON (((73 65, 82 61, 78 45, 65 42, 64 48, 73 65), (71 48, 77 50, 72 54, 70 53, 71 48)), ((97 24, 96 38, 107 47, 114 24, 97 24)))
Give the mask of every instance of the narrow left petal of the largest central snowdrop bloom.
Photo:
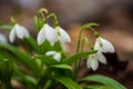
POLYGON ((37 37, 37 41, 38 41, 38 44, 42 44, 45 40, 45 36, 44 36, 44 28, 42 28, 39 33, 38 33, 38 37, 37 37))

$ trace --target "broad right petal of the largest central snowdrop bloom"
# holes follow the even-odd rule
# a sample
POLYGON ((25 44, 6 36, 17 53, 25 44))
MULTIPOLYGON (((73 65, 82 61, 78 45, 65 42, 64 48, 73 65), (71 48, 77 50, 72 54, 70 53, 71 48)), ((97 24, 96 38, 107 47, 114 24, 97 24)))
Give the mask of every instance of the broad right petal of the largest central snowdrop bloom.
POLYGON ((51 46, 54 46, 58 39, 57 37, 58 37, 57 31, 49 24, 45 24, 45 38, 48 41, 50 41, 51 46))

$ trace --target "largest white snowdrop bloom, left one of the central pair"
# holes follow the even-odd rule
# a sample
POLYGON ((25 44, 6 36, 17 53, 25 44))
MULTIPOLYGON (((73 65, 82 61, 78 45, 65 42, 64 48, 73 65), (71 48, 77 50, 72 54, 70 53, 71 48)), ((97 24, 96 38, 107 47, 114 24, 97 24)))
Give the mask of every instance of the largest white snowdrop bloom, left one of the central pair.
POLYGON ((57 31, 48 23, 43 24, 42 29, 38 33, 38 44, 42 44, 45 39, 50 41, 51 46, 54 46, 55 41, 58 40, 57 31))

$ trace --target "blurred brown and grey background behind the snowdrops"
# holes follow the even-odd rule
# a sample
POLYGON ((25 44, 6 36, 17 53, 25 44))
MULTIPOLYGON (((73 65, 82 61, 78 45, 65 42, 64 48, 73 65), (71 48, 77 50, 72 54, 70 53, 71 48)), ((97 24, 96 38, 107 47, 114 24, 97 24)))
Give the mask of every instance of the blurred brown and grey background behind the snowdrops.
MULTIPOLYGON (((133 89, 133 0, 0 0, 0 22, 10 24, 10 17, 14 17, 35 37, 33 17, 39 8, 57 13, 60 26, 71 34, 71 53, 75 51, 80 27, 98 22, 100 27, 95 29, 114 44, 116 53, 106 55, 109 67, 101 66, 96 72, 82 70, 108 75, 133 89)), ((0 33, 8 37, 7 31, 0 33)), ((84 34, 93 38, 89 32, 84 34)))

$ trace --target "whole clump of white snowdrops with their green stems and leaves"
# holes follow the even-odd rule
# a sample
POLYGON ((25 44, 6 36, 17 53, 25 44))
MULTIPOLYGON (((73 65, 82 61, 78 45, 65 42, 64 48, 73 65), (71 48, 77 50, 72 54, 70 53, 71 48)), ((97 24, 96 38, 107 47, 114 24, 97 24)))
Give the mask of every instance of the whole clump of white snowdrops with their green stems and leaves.
POLYGON ((115 52, 113 44, 101 38, 93 28, 98 27, 98 23, 90 22, 81 27, 76 52, 69 56, 64 44, 72 42, 71 37, 59 26, 53 12, 49 13, 43 8, 37 12, 34 17, 37 39, 13 18, 11 22, 13 26, 0 26, 1 29, 10 31, 10 42, 0 34, 0 87, 2 89, 13 89, 14 80, 21 83, 23 89, 125 89, 121 83, 105 76, 94 75, 78 79, 79 66, 83 59, 86 59, 86 67, 95 71, 99 62, 106 63, 104 52, 115 52), (50 18, 53 19, 53 26, 48 23, 50 18), (84 46, 82 43, 89 43, 89 39, 82 37, 84 30, 91 30, 95 38, 95 43, 89 51, 82 50, 84 46), (20 40, 14 44, 17 38, 20 40), (84 82, 93 83, 82 85, 84 82))

